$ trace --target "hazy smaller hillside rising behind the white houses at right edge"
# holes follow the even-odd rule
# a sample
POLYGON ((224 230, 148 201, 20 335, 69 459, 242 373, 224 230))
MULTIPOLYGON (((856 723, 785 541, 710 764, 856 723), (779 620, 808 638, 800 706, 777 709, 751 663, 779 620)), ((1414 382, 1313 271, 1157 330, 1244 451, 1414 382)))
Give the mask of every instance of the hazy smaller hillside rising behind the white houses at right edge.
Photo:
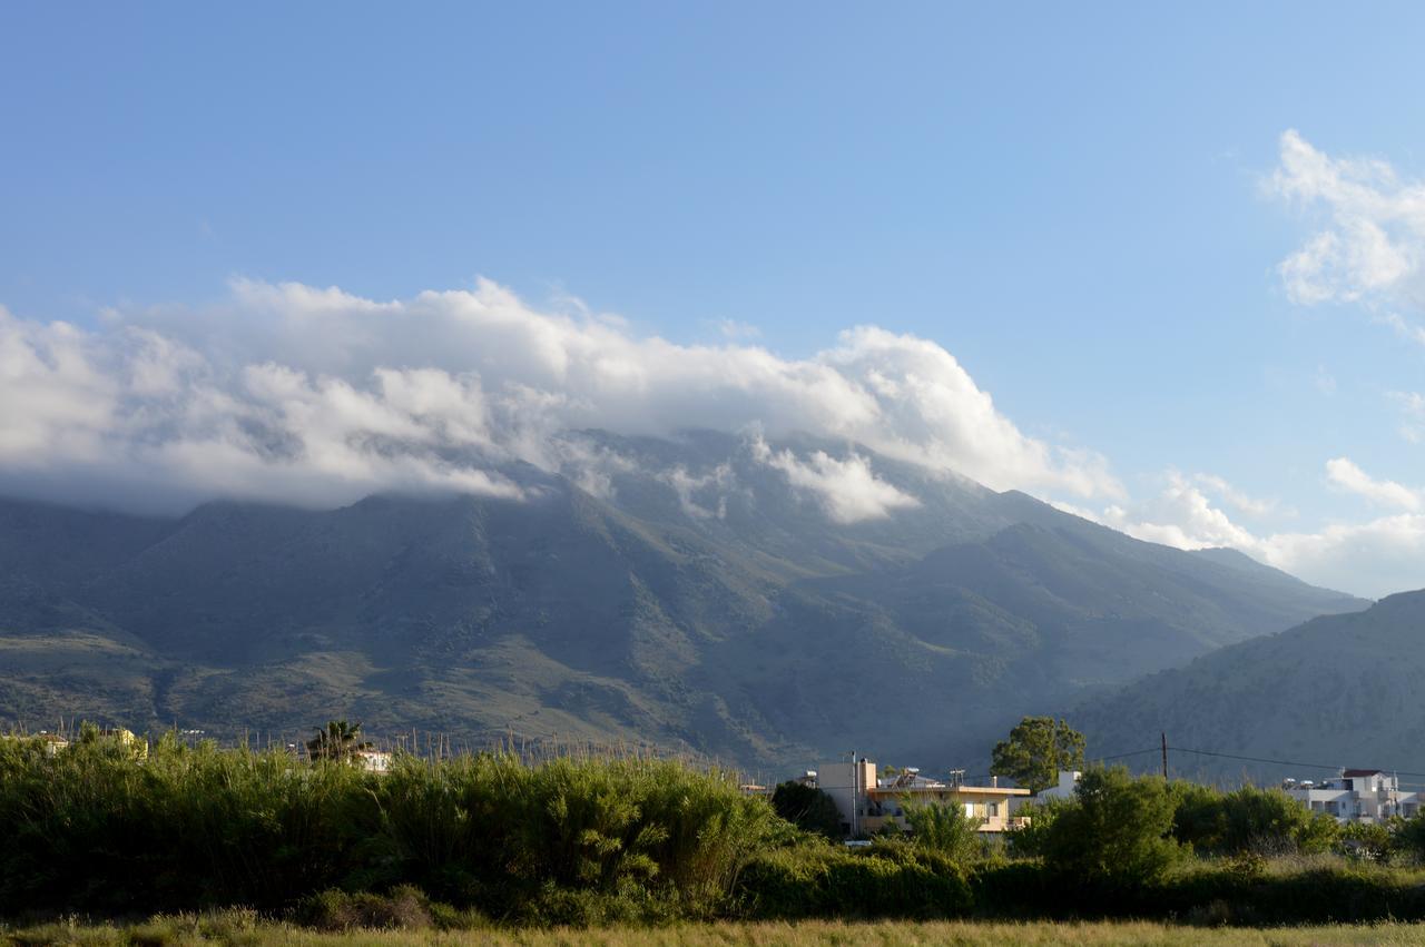
MULTIPOLYGON (((1425 773, 1425 592, 1315 618, 1163 671, 1070 713, 1090 755, 1151 746, 1425 773)), ((1157 765, 1156 760, 1151 760, 1157 765)), ((1321 779, 1330 769, 1170 753, 1226 779, 1321 779)), ((1414 778, 1421 782, 1419 778, 1414 778)))

